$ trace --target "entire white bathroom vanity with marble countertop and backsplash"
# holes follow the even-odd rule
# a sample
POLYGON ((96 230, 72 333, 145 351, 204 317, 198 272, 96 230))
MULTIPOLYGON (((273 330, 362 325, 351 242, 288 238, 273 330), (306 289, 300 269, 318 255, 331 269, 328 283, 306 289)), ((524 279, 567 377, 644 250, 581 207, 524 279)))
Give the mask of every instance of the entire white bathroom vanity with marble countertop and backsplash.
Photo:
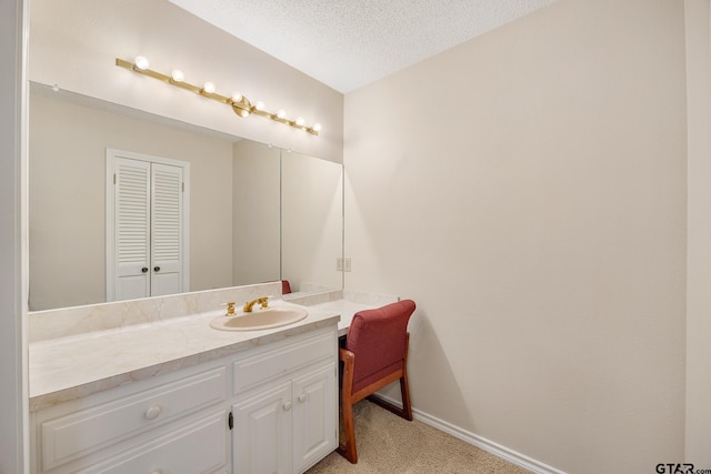
POLYGON ((389 301, 339 291, 294 300, 309 314, 293 324, 210 326, 219 302, 273 285, 31 314, 31 472, 302 473, 327 456, 338 446, 338 336, 357 311, 389 301))

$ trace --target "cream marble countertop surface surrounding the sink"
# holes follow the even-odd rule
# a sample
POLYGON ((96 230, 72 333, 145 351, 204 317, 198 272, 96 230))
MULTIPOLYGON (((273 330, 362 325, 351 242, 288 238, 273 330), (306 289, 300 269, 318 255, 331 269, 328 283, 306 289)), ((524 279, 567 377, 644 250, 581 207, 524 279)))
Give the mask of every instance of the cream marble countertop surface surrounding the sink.
MULTIPOLYGON (((274 306, 289 304, 272 302, 274 306)), ((340 300, 307 307, 307 319, 262 331, 213 330, 209 322, 222 315, 222 310, 30 343, 30 411, 326 327, 339 320, 339 333, 344 333, 354 312, 368 306, 340 300)))

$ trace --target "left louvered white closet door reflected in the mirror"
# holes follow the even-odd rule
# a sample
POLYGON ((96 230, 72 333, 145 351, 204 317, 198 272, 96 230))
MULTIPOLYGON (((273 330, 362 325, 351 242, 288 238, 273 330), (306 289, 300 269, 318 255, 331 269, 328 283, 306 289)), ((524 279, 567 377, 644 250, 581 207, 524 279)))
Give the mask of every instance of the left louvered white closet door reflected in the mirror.
POLYGON ((151 165, 146 161, 117 157, 114 170, 114 299, 147 297, 151 294, 151 165))

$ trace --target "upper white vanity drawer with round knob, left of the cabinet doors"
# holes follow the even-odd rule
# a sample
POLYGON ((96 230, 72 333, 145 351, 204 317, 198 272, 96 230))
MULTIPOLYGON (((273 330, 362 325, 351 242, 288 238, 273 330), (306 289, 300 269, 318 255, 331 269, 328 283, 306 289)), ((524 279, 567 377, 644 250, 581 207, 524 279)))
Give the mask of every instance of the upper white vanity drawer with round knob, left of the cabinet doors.
POLYGON ((42 470, 223 401, 226 383, 226 367, 216 367, 43 421, 39 427, 42 470))

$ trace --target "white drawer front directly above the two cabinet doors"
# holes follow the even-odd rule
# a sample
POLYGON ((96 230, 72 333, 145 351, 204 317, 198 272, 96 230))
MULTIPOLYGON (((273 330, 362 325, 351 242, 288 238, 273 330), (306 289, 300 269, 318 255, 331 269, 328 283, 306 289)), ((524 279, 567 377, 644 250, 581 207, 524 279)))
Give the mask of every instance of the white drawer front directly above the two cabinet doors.
POLYGON ((329 331, 244 356, 232 364, 233 394, 237 395, 312 362, 328 357, 336 360, 336 349, 334 331, 329 331))

